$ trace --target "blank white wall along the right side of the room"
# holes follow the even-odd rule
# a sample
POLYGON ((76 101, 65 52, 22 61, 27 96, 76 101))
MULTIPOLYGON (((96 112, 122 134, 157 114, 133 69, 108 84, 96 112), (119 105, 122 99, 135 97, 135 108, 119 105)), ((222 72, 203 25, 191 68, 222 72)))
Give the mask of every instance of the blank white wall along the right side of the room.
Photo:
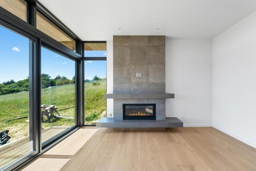
POLYGON ((213 39, 213 127, 256 148, 256 12, 213 39))

